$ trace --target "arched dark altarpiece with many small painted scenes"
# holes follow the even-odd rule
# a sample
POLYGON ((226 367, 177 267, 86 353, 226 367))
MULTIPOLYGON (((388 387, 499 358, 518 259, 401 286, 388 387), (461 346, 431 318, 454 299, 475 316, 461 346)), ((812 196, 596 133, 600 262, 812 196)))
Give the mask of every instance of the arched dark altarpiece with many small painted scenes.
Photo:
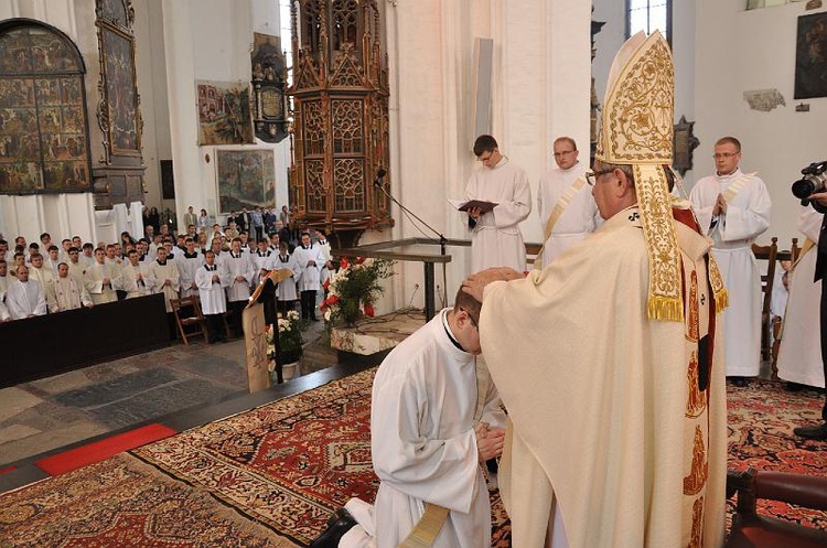
POLYGON ((85 72, 57 29, 0 23, 0 194, 89 190, 85 72))

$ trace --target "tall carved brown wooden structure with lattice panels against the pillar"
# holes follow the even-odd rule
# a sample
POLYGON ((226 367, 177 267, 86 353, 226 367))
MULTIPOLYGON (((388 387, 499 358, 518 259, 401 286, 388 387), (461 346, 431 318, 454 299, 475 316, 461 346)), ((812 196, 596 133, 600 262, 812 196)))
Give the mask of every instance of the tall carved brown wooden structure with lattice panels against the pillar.
POLYGON ((290 201, 297 219, 334 233, 391 226, 373 183, 388 168, 387 62, 376 0, 291 4, 290 201))

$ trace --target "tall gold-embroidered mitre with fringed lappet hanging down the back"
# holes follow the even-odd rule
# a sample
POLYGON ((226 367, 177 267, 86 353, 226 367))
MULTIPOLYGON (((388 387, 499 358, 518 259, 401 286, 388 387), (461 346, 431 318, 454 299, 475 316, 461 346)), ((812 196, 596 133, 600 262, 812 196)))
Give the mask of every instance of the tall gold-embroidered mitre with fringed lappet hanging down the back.
POLYGON ((683 321, 680 249, 672 222, 664 165, 672 163, 675 67, 669 45, 655 31, 638 32, 614 57, 609 73, 594 157, 632 165, 649 259, 649 319, 683 321))

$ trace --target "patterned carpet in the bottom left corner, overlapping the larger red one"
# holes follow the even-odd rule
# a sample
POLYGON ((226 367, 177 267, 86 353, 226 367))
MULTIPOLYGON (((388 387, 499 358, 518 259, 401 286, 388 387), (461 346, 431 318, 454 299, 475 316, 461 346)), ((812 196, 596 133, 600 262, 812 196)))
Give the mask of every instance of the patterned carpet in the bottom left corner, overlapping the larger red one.
POLYGON ((125 453, 2 495, 0 546, 297 548, 125 453))

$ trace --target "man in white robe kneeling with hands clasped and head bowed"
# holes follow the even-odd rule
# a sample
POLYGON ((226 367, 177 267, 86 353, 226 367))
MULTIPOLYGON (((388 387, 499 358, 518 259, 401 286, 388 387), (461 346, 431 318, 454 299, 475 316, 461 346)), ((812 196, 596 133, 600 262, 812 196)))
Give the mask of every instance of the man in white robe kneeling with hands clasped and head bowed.
POLYGON ((453 309, 402 341, 376 372, 370 451, 382 483, 374 519, 354 514, 359 526, 342 538, 341 548, 398 546, 428 503, 449 511, 434 548, 491 546, 481 463, 500 454, 505 416, 496 388, 476 364, 479 307, 470 296, 458 296, 453 309))

